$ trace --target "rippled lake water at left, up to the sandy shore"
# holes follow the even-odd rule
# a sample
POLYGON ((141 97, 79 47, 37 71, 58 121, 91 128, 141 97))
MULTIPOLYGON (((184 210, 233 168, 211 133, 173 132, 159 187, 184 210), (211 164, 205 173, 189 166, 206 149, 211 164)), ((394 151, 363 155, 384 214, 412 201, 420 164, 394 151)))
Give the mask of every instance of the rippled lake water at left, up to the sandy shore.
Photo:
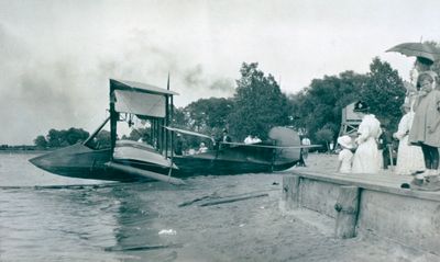
POLYGON ((1 261, 127 261, 178 247, 162 241, 148 208, 146 192, 168 185, 64 179, 33 168, 32 157, 0 155, 1 261), (76 186, 52 186, 63 183, 76 186))

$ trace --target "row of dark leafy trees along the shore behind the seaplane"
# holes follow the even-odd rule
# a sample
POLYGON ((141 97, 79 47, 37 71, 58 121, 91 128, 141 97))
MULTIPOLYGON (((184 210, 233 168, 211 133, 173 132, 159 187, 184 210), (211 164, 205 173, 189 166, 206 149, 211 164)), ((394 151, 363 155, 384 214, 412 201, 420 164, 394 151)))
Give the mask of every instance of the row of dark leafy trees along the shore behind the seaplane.
MULTIPOLYGON (((440 69, 437 64, 433 68, 440 69)), ((307 135, 314 144, 328 144, 338 137, 342 109, 358 100, 366 102, 371 113, 391 132, 397 129, 402 117, 400 105, 406 93, 403 79, 388 62, 377 57, 373 58, 366 73, 348 70, 312 79, 308 87, 289 95, 282 92, 272 75, 266 76, 258 69, 257 62, 243 62, 240 73, 233 96, 199 99, 175 109, 173 125, 211 136, 220 136, 227 128, 238 141, 248 135, 264 140, 272 127, 289 126, 307 135)), ((74 127, 51 129, 34 143, 42 148, 63 147, 84 140, 88 135, 74 127)), ((140 128, 122 138, 138 140, 147 136, 148 128, 140 128)), ((103 134, 98 139, 106 143, 108 138, 109 134, 103 134)), ((189 144, 195 145, 196 140, 189 144)))

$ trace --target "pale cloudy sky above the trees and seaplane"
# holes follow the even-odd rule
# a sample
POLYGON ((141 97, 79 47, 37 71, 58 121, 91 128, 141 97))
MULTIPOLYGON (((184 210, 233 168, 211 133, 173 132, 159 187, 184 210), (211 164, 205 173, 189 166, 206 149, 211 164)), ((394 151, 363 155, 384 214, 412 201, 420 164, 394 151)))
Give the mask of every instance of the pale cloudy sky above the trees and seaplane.
POLYGON ((440 42, 427 0, 0 0, 0 145, 51 128, 92 132, 109 79, 179 93, 185 106, 232 96, 243 62, 287 94, 312 79, 369 71, 374 57, 409 78, 414 58, 386 50, 440 42))

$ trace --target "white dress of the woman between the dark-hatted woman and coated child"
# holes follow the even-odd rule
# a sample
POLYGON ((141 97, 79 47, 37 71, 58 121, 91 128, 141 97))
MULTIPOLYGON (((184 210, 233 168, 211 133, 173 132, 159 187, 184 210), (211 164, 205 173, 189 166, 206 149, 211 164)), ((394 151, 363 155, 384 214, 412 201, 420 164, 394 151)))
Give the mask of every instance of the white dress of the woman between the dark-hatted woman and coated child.
POLYGON ((395 172, 397 174, 410 174, 415 171, 425 170, 424 152, 418 146, 408 144, 408 133, 413 126, 415 113, 413 111, 405 114, 399 124, 394 137, 399 139, 397 151, 397 164, 395 172))

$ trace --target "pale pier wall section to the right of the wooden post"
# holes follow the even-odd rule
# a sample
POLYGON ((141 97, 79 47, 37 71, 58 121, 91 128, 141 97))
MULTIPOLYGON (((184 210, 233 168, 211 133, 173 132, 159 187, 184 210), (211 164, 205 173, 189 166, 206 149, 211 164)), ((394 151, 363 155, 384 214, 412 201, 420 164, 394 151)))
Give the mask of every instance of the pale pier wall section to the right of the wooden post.
POLYGON ((440 253, 440 202, 363 190, 359 230, 440 253))

